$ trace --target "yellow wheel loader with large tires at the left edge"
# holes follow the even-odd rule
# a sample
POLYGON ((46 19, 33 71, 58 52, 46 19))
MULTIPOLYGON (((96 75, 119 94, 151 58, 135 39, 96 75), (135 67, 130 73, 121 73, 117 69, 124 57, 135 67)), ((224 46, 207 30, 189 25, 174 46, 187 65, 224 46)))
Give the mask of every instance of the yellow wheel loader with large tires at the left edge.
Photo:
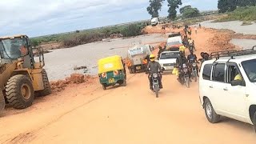
POLYGON ((16 109, 32 105, 34 95, 51 93, 43 50, 37 56, 26 35, 0 37, 0 113, 6 104, 16 109), (38 62, 35 59, 38 59, 38 62))

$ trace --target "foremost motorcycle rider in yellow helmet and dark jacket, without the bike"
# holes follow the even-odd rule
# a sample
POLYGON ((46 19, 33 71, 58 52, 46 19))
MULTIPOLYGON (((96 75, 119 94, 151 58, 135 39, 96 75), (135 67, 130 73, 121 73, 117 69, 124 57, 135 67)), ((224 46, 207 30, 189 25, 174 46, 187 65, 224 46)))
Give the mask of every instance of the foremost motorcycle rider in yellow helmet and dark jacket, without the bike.
POLYGON ((160 74, 159 72, 162 71, 161 66, 158 62, 154 61, 155 57, 154 54, 150 54, 150 62, 147 66, 147 70, 150 71, 149 73, 149 80, 150 80, 150 90, 154 90, 153 89, 153 82, 152 82, 152 74, 157 73, 158 74, 158 78, 159 78, 159 88, 162 89, 162 74, 160 74))

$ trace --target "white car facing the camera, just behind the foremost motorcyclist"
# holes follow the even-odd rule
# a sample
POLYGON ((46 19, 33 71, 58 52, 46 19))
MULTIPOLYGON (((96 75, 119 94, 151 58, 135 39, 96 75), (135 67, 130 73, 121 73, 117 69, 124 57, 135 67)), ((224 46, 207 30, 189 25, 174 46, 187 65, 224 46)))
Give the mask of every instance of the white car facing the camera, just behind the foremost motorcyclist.
POLYGON ((160 54, 158 62, 164 71, 174 70, 178 55, 178 51, 164 51, 160 54))

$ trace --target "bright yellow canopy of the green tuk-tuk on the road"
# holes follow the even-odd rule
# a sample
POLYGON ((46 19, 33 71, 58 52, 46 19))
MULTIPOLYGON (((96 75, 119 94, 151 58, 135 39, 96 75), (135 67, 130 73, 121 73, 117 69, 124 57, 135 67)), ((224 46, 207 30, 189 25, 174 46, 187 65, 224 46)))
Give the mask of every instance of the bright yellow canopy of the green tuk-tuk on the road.
POLYGON ((98 74, 106 73, 113 70, 124 69, 122 64, 122 57, 114 55, 107 58, 101 58, 98 60, 98 74))

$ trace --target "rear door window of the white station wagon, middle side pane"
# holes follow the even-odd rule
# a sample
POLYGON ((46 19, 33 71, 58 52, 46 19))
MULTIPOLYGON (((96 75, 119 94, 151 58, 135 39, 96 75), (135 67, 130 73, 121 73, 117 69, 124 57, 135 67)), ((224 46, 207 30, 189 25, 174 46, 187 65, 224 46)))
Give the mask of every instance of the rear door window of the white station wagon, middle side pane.
POLYGON ((225 82, 224 75, 225 75, 225 64, 220 63, 214 66, 213 81, 225 82))

